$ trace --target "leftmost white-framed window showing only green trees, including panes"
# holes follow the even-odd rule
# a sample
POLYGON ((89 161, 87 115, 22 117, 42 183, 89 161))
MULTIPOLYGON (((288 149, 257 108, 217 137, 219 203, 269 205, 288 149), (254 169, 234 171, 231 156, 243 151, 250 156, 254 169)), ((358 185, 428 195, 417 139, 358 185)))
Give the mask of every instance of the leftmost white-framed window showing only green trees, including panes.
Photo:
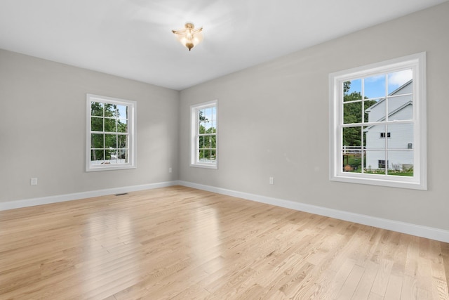
POLYGON ((86 171, 135 168, 135 101, 92 94, 86 100, 86 171))

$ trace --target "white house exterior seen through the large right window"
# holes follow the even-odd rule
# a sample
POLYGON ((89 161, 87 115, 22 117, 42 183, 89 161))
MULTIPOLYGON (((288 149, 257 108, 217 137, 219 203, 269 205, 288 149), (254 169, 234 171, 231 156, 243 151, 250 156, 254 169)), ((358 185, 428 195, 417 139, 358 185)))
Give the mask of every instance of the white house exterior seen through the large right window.
MULTIPOLYGON (((406 82, 387 98, 366 109, 368 122, 413 118, 413 80, 406 82), (386 105, 388 103, 388 109, 386 105)), ((408 170, 413 167, 413 124, 368 126, 366 132, 366 168, 408 170)))

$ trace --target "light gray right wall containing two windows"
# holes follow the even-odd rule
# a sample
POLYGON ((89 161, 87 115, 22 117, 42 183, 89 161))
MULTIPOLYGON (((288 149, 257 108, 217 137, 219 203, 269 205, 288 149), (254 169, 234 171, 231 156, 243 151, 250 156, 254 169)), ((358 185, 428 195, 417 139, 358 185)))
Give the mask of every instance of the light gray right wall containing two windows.
POLYGON ((449 230, 448 15, 446 2, 181 91, 180 180, 449 230), (422 51, 429 190, 330 182, 328 74, 422 51), (218 169, 189 167, 189 105, 214 99, 218 169))

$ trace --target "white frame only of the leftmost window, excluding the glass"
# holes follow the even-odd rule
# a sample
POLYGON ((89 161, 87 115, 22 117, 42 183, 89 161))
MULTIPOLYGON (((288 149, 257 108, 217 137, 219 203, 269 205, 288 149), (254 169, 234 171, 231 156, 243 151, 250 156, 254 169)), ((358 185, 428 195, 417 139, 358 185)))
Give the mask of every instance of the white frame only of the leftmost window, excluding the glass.
POLYGON ((86 94, 86 171, 135 169, 137 167, 137 102, 119 98, 86 94), (128 107, 128 162, 123 164, 91 164, 91 103, 100 102, 128 107))

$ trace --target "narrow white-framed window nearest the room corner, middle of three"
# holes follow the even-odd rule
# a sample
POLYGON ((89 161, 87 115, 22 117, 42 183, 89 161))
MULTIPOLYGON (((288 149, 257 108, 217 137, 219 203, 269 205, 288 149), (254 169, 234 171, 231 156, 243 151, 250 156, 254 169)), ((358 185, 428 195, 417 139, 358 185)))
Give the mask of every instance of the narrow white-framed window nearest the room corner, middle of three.
POLYGON ((217 169, 217 100, 192 105, 190 165, 217 169))

